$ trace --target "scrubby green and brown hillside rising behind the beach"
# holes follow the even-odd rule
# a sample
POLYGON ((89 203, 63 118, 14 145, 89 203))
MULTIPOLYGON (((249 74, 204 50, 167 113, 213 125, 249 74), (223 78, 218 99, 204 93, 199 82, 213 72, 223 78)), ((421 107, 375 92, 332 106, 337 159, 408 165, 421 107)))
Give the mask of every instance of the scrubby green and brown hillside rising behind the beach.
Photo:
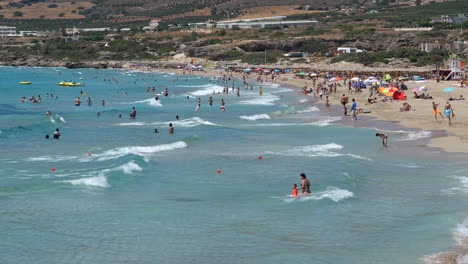
MULTIPOLYGON (((47 1, 21 0, 26 8, 47 1), (29 2, 24 2, 29 1, 29 2), (29 5, 30 4, 30 5, 29 5)), ((130 32, 85 33, 71 41, 64 39, 3 40, 0 52, 3 64, 48 64, 77 61, 129 61, 171 60, 176 54, 188 57, 248 64, 276 63, 284 65, 308 64, 317 61, 330 63, 356 62, 364 65, 425 66, 443 62, 448 54, 458 53, 466 57, 467 49, 420 50, 421 43, 468 41, 465 22, 459 25, 432 23, 431 18, 441 15, 468 13, 468 1, 317 1, 317 5, 290 1, 294 5, 273 5, 270 0, 214 0, 198 1, 108 1, 56 2, 59 9, 65 4, 81 10, 83 17, 39 18, 24 15, 19 18, 3 17, 1 24, 18 26, 19 29, 63 30, 65 27, 131 27, 130 32), (87 7, 85 8, 85 3, 87 7), (209 3, 215 4, 209 6, 209 3), (234 3, 236 5, 234 5, 234 3), (245 8, 242 7, 245 3, 245 8), (271 4, 260 7, 261 4, 271 4), (158 8, 159 6, 159 8, 158 8), (78 8, 83 7, 83 8, 78 8), (105 14, 101 9, 107 7, 105 14), (230 9, 233 8, 233 9, 230 9), (114 10, 114 11, 113 11, 114 10), (118 11, 116 15, 115 12, 118 11), (178 10, 178 12, 176 12, 178 10), (373 12, 371 12, 373 11, 373 12), (208 19, 251 18, 258 16, 287 15, 286 20, 314 19, 319 23, 308 27, 274 27, 258 29, 203 29, 195 30, 188 23, 208 19), (156 32, 143 32, 141 28, 150 18, 162 21, 156 32), (169 27, 170 25, 179 25, 169 27), (394 27, 433 27, 424 32, 396 32, 394 27), (338 47, 353 47, 367 52, 336 54, 338 47), (288 58, 287 52, 303 52, 310 57, 288 58)), ((282 1, 281 4, 286 3, 282 1)), ((16 8, 20 8, 17 6, 16 8)), ((0 9, 2 11, 4 9, 0 9)))

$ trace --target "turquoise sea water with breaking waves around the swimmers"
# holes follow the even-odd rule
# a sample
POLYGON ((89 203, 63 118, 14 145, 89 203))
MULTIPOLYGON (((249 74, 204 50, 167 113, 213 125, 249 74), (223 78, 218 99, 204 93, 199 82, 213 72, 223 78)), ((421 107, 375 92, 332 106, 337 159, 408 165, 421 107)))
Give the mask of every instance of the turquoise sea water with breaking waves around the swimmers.
POLYGON ((382 149, 365 117, 235 86, 210 107, 222 84, 204 77, 0 68, 0 263, 417 263, 468 234, 463 157, 423 147, 430 132, 388 125, 382 149), (292 198, 301 172, 313 194, 292 198))

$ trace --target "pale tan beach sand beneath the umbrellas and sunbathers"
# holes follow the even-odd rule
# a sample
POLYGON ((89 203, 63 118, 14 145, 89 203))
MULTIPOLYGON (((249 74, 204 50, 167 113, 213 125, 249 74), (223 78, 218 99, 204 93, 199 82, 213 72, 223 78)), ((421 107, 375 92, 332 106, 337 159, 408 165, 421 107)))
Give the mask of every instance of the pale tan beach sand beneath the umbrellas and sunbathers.
MULTIPOLYGON (((148 70, 148 69, 146 69, 148 70)), ((242 78, 242 73, 238 72, 225 72, 224 70, 214 70, 214 69, 205 69, 205 71, 189 71, 182 69, 151 69, 153 71, 165 71, 165 72, 174 72, 178 74, 194 74, 200 76, 223 76, 233 74, 236 78, 242 78)), ((258 77, 257 74, 250 74, 247 76, 248 83, 252 83, 258 77)), ((284 83, 293 87, 298 88, 298 92, 301 92, 305 85, 308 88, 312 87, 312 81, 306 79, 295 78, 294 74, 281 74, 277 78, 277 83, 284 83)), ((323 82, 323 78, 319 78, 317 83, 323 82)), ((455 113, 455 117, 452 118, 452 124, 448 124, 448 120, 445 118, 442 119, 438 116, 436 121, 434 118, 434 112, 432 109, 432 102, 436 102, 439 105, 439 111, 444 110, 444 106, 448 98, 450 97, 468 97, 468 88, 459 88, 458 81, 440 81, 437 83, 435 80, 427 80, 423 83, 415 83, 413 81, 406 81, 405 84, 408 86, 408 90, 405 91, 408 100, 407 101, 387 101, 387 102, 377 102, 374 104, 369 104, 367 99, 369 97, 369 90, 364 89, 362 93, 351 93, 348 95, 348 86, 344 86, 342 81, 339 81, 341 86, 338 86, 337 93, 329 95, 332 112, 343 113, 343 107, 340 104, 340 99, 344 94, 349 97, 351 102, 352 98, 356 99, 358 108, 363 108, 365 111, 371 111, 368 114, 360 114, 359 116, 366 115, 375 117, 378 120, 398 122, 399 125, 407 128, 420 129, 422 131, 434 132, 430 137, 429 142, 427 143, 428 147, 440 148, 447 152, 461 152, 468 153, 468 100, 463 101, 450 101, 452 108, 455 113), (414 98, 413 89, 418 86, 428 86, 430 89, 428 91, 429 95, 433 99, 416 99, 414 98), (445 92, 444 88, 454 88, 455 91, 445 92), (415 111, 410 112, 401 112, 400 108, 403 105, 403 102, 409 103, 415 111), (446 133, 441 132, 446 131, 446 133)), ((314 96, 309 94, 309 96, 314 96)), ((318 98, 318 97, 317 97, 318 98)), ((324 97, 325 98, 325 97, 324 97)), ((380 97, 379 97, 380 98, 380 97)), ((319 108, 321 111, 325 111, 325 100, 322 99, 323 103, 319 101, 319 108)), ((350 104, 348 104, 348 110, 350 104)), ((348 117, 351 119, 351 117, 348 117)), ((356 125, 359 122, 365 122, 362 120, 356 121, 356 125)), ((389 139, 391 141, 391 138, 389 139)))

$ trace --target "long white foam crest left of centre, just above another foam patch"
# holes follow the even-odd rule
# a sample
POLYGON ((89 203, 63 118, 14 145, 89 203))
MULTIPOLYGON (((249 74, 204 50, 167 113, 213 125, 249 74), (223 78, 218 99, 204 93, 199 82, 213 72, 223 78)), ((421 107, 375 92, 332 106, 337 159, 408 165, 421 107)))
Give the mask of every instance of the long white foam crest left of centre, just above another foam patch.
POLYGON ((156 145, 156 146, 128 146, 120 147, 105 151, 100 154, 95 154, 93 157, 99 161, 117 159, 126 155, 134 154, 143 157, 163 151, 170 151, 175 149, 186 148, 187 144, 183 141, 177 141, 170 144, 156 145))

